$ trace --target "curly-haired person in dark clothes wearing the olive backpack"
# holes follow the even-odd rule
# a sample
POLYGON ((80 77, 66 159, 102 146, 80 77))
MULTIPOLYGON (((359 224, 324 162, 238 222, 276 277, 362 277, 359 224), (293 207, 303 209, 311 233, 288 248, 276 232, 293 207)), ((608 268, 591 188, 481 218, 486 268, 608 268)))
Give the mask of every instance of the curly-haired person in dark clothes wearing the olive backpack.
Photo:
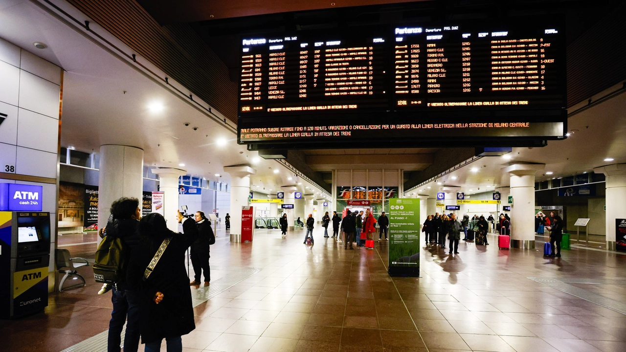
MULTIPOLYGON (((140 244, 140 237, 137 233, 140 219, 141 209, 139 209, 138 199, 122 197, 111 204, 111 217, 103 232, 106 236, 118 237, 123 241, 126 263, 135 257, 140 244)), ((137 351, 139 348, 140 294, 135 282, 126 280, 124 274, 128 271, 128 266, 123 267, 123 271, 120 281, 116 282, 111 292, 113 311, 109 322, 108 352, 120 352, 120 334, 127 319, 124 351, 137 351)))

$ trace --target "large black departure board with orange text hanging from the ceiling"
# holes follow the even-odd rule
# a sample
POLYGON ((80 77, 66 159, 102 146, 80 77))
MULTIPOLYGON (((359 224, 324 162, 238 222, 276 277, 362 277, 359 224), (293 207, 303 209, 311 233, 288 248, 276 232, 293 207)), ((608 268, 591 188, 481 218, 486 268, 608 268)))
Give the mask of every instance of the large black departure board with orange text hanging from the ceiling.
POLYGON ((562 138, 562 26, 483 22, 242 38, 239 142, 562 138))

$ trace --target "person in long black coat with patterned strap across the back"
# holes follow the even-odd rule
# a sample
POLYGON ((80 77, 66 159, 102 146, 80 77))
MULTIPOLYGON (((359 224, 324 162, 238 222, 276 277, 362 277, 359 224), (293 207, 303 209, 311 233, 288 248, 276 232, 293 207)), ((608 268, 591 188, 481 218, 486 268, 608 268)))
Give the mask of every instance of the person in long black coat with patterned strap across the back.
MULTIPOLYGON (((178 212, 178 222, 182 219, 178 212)), ((127 278, 131 282, 140 282, 141 343, 146 344, 146 352, 160 351, 165 338, 168 351, 181 351, 180 336, 195 329, 185 252, 198 238, 198 227, 193 219, 187 219, 183 223, 183 233, 176 233, 167 228, 162 215, 152 213, 141 218, 139 234, 142 242, 133 251, 127 278), (166 238, 170 239, 167 248, 144 280, 146 267, 166 238)))

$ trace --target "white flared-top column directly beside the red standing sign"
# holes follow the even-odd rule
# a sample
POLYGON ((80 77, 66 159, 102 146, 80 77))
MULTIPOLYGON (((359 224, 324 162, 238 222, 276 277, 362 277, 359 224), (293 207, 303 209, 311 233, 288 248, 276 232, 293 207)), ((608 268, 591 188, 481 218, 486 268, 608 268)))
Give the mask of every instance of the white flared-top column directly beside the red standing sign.
POLYGON ((230 175, 230 241, 241 242, 241 209, 248 205, 250 175, 257 170, 248 166, 227 166, 224 172, 230 175))

